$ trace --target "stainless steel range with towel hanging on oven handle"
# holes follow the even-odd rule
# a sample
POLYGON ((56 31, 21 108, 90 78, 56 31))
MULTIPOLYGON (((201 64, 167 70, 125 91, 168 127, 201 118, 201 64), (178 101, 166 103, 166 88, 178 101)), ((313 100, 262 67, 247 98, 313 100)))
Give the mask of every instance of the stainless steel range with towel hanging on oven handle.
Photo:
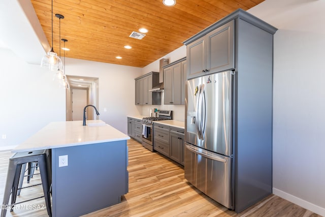
POLYGON ((173 111, 169 110, 159 110, 157 117, 144 117, 142 118, 142 145, 153 151, 152 145, 152 123, 157 120, 171 120, 173 119, 172 113, 173 111))

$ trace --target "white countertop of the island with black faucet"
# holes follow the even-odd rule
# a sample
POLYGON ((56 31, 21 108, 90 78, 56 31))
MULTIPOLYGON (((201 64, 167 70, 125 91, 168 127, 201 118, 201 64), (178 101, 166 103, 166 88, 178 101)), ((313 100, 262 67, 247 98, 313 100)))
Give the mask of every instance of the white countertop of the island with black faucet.
POLYGON ((50 122, 12 152, 60 148, 130 139, 102 120, 50 122))

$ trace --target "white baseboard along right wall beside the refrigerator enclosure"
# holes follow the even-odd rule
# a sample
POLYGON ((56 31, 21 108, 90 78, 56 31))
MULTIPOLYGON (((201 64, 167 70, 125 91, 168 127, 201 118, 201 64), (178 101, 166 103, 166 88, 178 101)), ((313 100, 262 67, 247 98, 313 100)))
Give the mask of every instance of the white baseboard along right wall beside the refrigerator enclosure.
POLYGON ((295 203, 295 204, 297 204, 297 205, 299 205, 299 206, 301 206, 301 207, 303 207, 305 209, 308 209, 308 210, 310 210, 312 212, 315 212, 316 214, 319 214, 321 216, 325 216, 325 208, 323 208, 323 207, 317 206, 315 204, 312 204, 312 203, 310 203, 308 201, 305 201, 305 200, 300 199, 300 198, 298 198, 298 197, 296 197, 294 195, 290 195, 290 194, 288 194, 286 192, 283 192, 283 191, 275 189, 275 188, 273 188, 273 194, 275 194, 275 195, 277 195, 277 196, 279 196, 279 197, 281 197, 281 198, 283 198, 285 200, 288 200, 288 201, 290 201, 292 203, 295 203))

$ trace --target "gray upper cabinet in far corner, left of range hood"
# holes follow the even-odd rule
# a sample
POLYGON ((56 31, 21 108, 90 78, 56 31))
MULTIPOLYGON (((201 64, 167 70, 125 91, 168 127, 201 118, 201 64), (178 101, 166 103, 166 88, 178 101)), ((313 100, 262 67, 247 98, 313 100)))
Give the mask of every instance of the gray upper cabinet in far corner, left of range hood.
POLYGON ((159 73, 150 72, 136 80, 136 105, 160 105, 160 92, 151 92, 153 86, 159 84, 159 73))

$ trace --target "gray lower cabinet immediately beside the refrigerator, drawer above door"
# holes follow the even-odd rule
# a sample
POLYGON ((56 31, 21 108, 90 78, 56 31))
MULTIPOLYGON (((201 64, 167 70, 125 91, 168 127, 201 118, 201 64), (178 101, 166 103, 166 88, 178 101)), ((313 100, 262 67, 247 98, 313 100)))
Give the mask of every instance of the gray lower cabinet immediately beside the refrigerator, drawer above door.
POLYGON ((170 158, 184 165, 184 129, 170 128, 170 158))

